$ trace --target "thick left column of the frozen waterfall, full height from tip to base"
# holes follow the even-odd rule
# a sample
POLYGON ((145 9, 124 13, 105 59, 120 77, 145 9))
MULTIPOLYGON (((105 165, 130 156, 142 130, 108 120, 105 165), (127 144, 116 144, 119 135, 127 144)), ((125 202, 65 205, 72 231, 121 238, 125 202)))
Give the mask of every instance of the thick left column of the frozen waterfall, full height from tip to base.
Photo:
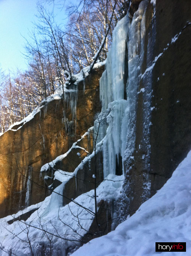
MULTIPOLYGON (((106 70, 100 78, 100 101, 102 112, 99 121, 99 140, 103 140, 104 177, 109 173, 115 174, 119 157, 123 158, 126 132, 123 129, 123 116, 127 106, 124 99, 126 85, 124 75, 127 65, 126 49, 128 36, 128 16, 118 21, 113 31, 112 47, 107 55, 106 70), (106 121, 107 120, 107 121, 106 121), (106 123, 105 123, 106 121, 106 123), (107 131, 106 131, 107 130, 107 131), (106 134, 106 135, 105 135, 106 134), (125 137, 124 137, 125 136, 125 137)), ((99 122, 95 121, 95 133, 99 122)))

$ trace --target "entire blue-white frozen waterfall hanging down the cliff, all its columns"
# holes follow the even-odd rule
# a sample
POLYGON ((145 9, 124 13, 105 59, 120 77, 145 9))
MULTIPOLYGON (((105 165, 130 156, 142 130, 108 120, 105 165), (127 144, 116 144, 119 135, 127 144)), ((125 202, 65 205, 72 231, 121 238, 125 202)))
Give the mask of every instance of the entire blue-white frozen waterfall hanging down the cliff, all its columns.
MULTIPOLYGON (((133 20, 126 15, 118 21, 113 31, 112 47, 107 55, 106 69, 100 78, 101 117, 107 116, 107 124, 99 128, 99 141, 103 139, 104 177, 117 173, 117 165, 132 158, 136 134, 136 108, 139 93, 144 98, 144 136, 149 154, 149 125, 151 111, 151 83, 149 73, 147 87, 141 88, 144 79, 141 67, 144 57, 144 35, 147 1, 139 4, 133 20), (128 72, 128 79, 125 79, 128 72), (140 91, 139 91, 140 90, 140 91), (105 135, 105 137, 104 137, 105 135)), ((149 44, 151 42, 149 41, 149 44)), ((149 62, 149 54, 147 57, 149 62)), ((149 64, 149 63, 148 63, 149 64)), ((95 133, 98 123, 95 122, 95 133)), ((123 164, 121 165, 123 168, 123 164)), ((123 170, 124 172, 124 170, 123 170)))

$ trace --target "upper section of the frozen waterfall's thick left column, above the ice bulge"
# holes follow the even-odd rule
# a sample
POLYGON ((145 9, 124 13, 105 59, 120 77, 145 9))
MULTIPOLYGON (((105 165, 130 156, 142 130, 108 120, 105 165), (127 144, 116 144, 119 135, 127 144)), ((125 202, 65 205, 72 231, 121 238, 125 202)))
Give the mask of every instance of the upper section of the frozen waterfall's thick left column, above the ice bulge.
POLYGON ((112 101, 124 98, 125 50, 127 41, 128 16, 118 21, 113 31, 112 47, 107 55, 106 70, 100 78, 100 100, 102 111, 112 101))

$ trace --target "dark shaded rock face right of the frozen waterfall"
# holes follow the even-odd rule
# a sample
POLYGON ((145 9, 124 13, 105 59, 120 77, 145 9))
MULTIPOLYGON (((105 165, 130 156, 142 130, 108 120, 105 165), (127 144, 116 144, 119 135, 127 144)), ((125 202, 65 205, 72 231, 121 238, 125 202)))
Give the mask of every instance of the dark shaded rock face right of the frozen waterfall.
POLYGON ((121 207, 121 212, 129 211, 130 215, 165 184, 191 148, 190 9, 189 0, 147 3, 141 72, 146 74, 152 67, 152 78, 141 77, 139 91, 143 89, 136 106, 133 159, 124 162, 126 179, 122 201, 125 208, 121 207), (152 85, 150 147, 144 142, 144 93, 150 93, 148 83, 152 85), (145 167, 146 162, 149 168, 145 167))

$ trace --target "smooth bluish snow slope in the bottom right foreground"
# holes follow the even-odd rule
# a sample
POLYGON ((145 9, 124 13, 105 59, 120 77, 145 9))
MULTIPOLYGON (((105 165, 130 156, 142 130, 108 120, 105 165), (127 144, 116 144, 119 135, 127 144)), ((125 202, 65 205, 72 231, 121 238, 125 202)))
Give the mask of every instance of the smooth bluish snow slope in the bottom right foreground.
POLYGON ((186 242, 191 255, 191 151, 167 183, 134 215, 105 236, 91 240, 73 256, 156 255, 155 242, 186 242))

